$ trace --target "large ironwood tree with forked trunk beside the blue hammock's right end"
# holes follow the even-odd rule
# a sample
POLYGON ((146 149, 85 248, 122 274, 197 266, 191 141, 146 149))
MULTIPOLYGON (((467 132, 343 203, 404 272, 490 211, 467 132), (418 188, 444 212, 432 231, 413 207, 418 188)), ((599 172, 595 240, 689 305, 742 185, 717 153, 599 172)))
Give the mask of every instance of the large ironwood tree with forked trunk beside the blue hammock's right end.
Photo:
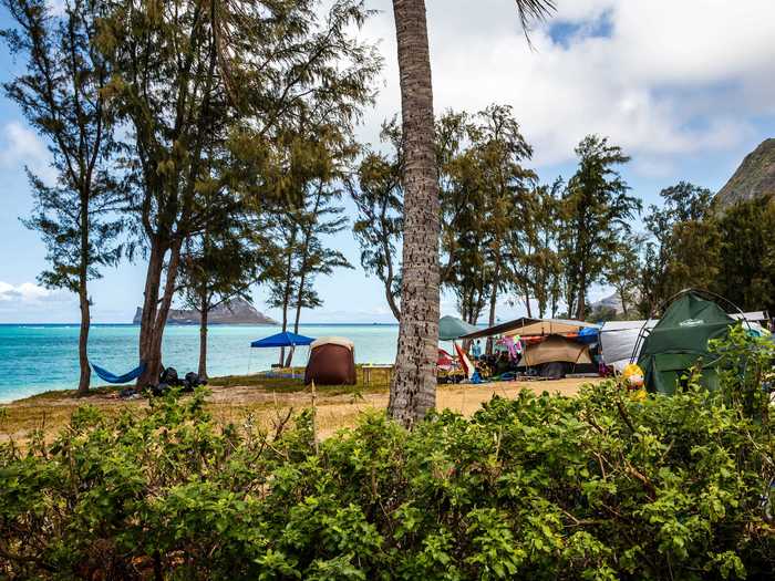
POLYGON ((360 0, 112 1, 101 44, 130 127, 137 234, 147 259, 141 385, 155 383, 185 241, 240 197, 271 193, 278 127, 326 107, 352 126, 380 68, 356 38, 360 0), (209 155, 229 160, 217 168, 209 155), (197 203, 203 181, 214 197, 197 203), (217 199, 216 199, 217 198, 217 199))

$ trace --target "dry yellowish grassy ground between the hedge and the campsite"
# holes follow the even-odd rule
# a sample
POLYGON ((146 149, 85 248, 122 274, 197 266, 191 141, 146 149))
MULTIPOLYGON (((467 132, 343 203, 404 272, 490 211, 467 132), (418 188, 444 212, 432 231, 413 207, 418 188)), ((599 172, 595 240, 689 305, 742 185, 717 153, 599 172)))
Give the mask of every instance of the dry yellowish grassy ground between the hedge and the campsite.
MULTIPOLYGON (((363 384, 359 369, 355 386, 316 386, 318 428, 321 437, 351 426, 358 416, 388 406, 389 375, 375 370, 369 385, 363 384)), ((592 380, 595 381, 595 380, 592 380)), ((502 382, 482 385, 440 385, 437 407, 472 414, 493 395, 514 397, 520 390, 548 391, 574 395, 590 380, 558 380, 547 382, 502 382)), ((211 380, 208 407, 220 423, 250 421, 270 428, 278 417, 289 411, 312 405, 312 391, 301 380, 267 378, 260 375, 227 376, 211 380)), ((76 391, 46 392, 0 406, 0 442, 22 443, 42 430, 46 439, 64 427, 72 412, 81 405, 94 405, 106 414, 140 411, 147 407, 145 398, 122 400, 121 388, 96 387, 85 397, 76 391)))

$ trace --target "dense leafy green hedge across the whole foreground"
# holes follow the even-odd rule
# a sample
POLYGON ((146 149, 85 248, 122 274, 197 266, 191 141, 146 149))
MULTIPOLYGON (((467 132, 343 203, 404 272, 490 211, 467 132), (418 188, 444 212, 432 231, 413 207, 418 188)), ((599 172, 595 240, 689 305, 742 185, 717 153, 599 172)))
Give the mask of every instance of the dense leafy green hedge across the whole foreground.
POLYGON ((314 452, 203 395, 0 457, 9 579, 772 579, 766 418, 689 388, 494 398, 409 434, 378 415, 314 452))

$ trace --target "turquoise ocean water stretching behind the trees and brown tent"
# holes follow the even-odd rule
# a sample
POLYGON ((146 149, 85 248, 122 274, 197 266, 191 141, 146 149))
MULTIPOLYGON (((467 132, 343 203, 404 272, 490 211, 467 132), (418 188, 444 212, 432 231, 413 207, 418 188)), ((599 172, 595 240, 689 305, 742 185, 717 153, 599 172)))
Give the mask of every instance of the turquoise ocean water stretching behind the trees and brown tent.
MULTIPOLYGON (((278 326, 213 325, 209 329, 209 375, 255 373, 277 363, 279 350, 250 349, 256 339, 277 333, 278 326)), ((301 325, 303 335, 345 336, 355 343, 359 363, 392 363, 397 325, 301 325)), ((125 373, 137 365, 140 326, 92 325, 89 353, 97 365, 125 373)), ((0 402, 18 400, 49 390, 78 386, 78 325, 0 325, 0 402)), ((294 363, 304 364, 307 347, 297 350, 294 363)), ((170 325, 164 334, 164 364, 184 374, 196 371, 199 353, 198 326, 170 325)), ((92 383, 102 382, 92 374, 92 383)))

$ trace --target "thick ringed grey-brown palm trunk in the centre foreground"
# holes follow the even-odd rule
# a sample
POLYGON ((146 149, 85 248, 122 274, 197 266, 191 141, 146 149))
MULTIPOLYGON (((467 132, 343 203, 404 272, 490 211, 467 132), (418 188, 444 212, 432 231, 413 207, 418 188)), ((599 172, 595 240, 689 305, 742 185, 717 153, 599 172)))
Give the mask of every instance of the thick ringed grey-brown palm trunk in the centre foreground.
POLYGON ((436 405, 438 176, 424 0, 393 0, 405 143, 401 323, 390 415, 412 427, 436 405))

